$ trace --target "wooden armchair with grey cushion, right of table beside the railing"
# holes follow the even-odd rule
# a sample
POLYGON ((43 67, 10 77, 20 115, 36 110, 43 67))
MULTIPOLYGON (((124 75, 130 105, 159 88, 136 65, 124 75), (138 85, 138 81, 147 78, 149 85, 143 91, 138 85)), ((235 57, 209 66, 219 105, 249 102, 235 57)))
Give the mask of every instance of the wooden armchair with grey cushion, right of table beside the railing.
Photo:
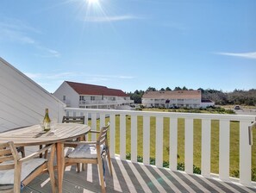
POLYGON ((101 128, 100 131, 91 131, 91 133, 97 133, 97 141, 72 141, 66 142, 66 145, 76 144, 77 147, 66 155, 65 163, 67 165, 73 165, 75 163, 82 164, 97 164, 98 173, 100 176, 102 192, 105 192, 104 177, 103 177, 103 163, 104 157, 108 157, 109 172, 112 176, 112 166, 109 154, 109 145, 107 132, 109 129, 109 123, 107 126, 101 128))

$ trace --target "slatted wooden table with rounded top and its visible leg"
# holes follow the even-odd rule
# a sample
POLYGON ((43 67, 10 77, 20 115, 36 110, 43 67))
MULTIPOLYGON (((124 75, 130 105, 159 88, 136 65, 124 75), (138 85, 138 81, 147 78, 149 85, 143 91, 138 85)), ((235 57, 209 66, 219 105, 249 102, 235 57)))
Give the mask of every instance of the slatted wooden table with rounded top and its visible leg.
POLYGON ((0 143, 13 141, 16 146, 39 146, 56 144, 58 192, 62 192, 64 175, 64 145, 63 141, 82 137, 91 130, 90 126, 76 123, 58 123, 52 130, 45 133, 40 125, 18 128, 0 134, 0 143))

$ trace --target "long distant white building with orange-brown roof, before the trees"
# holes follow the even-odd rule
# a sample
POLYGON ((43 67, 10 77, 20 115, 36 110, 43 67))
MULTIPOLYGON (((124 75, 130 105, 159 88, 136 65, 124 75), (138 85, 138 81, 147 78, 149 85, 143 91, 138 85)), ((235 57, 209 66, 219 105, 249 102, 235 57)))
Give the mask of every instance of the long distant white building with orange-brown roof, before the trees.
POLYGON ((164 90, 145 92, 142 96, 142 105, 157 108, 200 108, 213 106, 215 103, 204 103, 201 90, 164 90))

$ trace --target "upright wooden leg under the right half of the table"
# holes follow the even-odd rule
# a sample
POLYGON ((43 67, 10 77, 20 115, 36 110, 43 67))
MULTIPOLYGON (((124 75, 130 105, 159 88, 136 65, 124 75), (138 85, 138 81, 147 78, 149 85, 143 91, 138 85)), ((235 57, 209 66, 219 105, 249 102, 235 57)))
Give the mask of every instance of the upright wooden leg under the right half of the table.
POLYGON ((57 171, 58 171, 58 192, 62 193, 62 182, 64 176, 64 144, 59 142, 56 144, 56 154, 57 154, 57 171))

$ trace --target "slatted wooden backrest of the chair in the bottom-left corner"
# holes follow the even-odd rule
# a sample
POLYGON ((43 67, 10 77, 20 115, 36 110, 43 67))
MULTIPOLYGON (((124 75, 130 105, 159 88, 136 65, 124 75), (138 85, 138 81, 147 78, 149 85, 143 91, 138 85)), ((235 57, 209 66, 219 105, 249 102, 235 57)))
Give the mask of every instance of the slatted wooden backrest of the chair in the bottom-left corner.
POLYGON ((2 163, 0 165, 0 171, 14 169, 15 162, 10 161, 17 159, 19 159, 19 155, 12 141, 0 144, 0 163, 2 163))

